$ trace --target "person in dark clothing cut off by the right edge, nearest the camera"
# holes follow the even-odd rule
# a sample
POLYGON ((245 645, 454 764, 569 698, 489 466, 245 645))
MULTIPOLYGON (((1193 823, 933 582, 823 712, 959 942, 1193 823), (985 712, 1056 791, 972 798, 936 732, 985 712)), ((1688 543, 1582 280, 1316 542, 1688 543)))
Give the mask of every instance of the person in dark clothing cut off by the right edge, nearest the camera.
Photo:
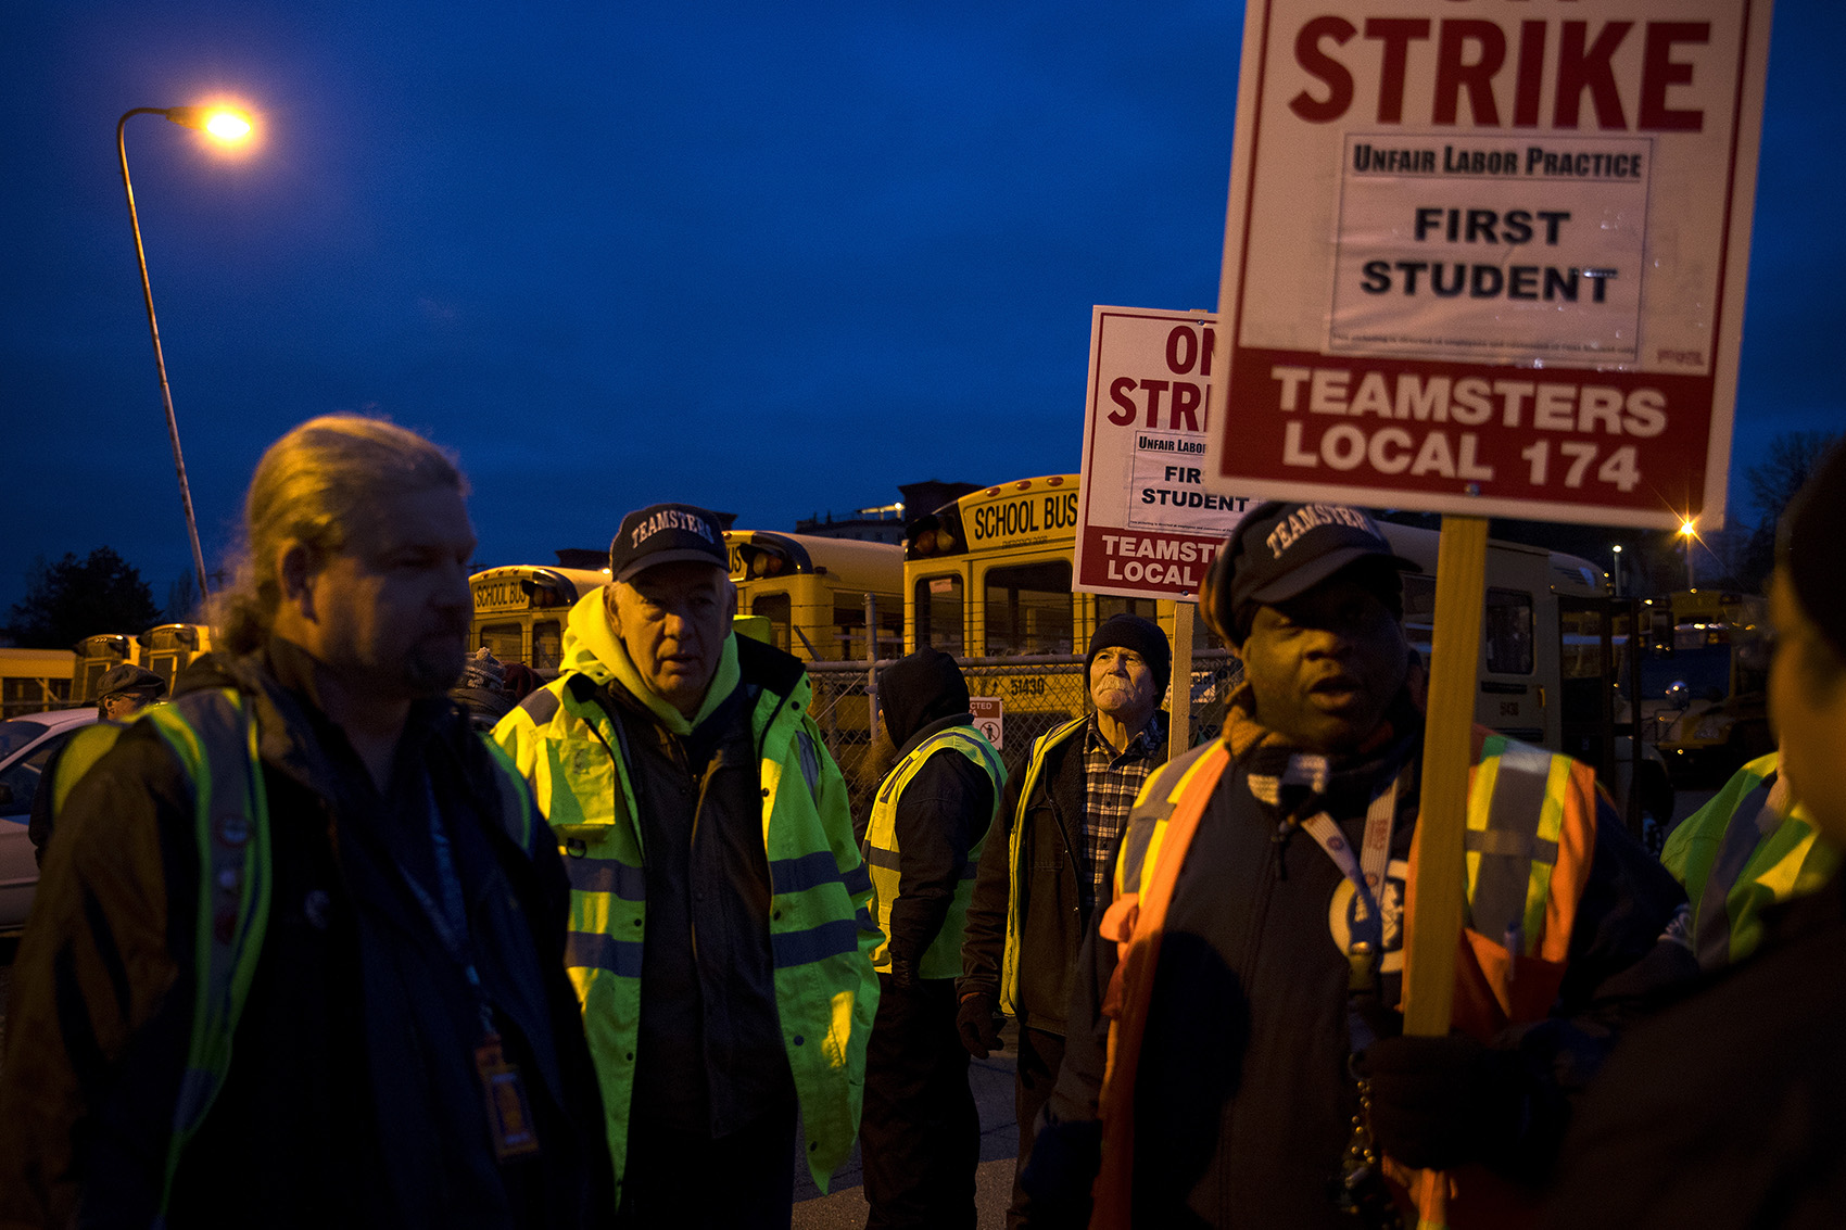
MULTIPOLYGON (((1768 597, 1776 772, 1835 846, 1846 844, 1842 526, 1837 445, 1783 513, 1768 597)), ((1846 1226, 1846 877, 1763 909, 1761 931, 1754 957, 1610 1058, 1565 1141, 1551 1224, 1846 1226)))

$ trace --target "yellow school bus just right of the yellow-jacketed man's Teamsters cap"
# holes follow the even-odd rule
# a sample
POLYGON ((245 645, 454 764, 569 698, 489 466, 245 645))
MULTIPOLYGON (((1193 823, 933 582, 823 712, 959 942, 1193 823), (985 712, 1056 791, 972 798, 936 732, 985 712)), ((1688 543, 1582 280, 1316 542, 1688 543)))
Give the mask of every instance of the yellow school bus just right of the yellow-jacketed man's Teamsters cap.
POLYGON ((775 648, 803 661, 864 661, 869 613, 879 657, 899 656, 905 549, 897 543, 725 530, 724 545, 737 613, 768 619, 775 648))

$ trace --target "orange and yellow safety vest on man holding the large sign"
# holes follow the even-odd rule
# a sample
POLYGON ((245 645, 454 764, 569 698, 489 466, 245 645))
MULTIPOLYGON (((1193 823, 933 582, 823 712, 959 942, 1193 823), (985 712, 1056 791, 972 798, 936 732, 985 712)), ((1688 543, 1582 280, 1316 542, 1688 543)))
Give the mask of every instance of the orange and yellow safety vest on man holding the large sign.
MULTIPOLYGON (((1580 761, 1484 726, 1473 731, 1473 761, 1464 835, 1468 918, 1455 962, 1453 1021, 1488 1042, 1508 1023, 1541 1019, 1558 995, 1597 844, 1597 779, 1580 761), (1508 951, 1504 940, 1517 942, 1519 951, 1508 951)), ((1100 923, 1119 960, 1102 1005, 1109 1043, 1093 1230, 1132 1224, 1135 1069, 1167 907, 1229 765, 1229 748, 1218 741, 1163 766, 1143 787, 1122 835, 1115 901, 1100 923)), ((1410 838, 1412 868, 1418 837, 1410 838)), ((1414 885, 1407 885, 1407 899, 1416 899, 1414 885)), ((1414 1191, 1416 1175, 1396 1171, 1394 1178, 1414 1191)), ((1451 1176, 1451 1226, 1504 1226, 1508 1215, 1517 1217, 1517 1206, 1495 1191, 1501 1184, 1477 1186, 1473 1175, 1486 1173, 1468 1167, 1451 1176)))

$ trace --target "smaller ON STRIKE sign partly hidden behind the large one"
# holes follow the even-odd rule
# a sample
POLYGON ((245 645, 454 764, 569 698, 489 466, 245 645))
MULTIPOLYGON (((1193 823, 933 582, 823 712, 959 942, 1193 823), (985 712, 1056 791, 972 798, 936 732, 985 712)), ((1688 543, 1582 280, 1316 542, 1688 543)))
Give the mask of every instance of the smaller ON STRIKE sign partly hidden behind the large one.
POLYGON ((1093 310, 1074 589, 1191 602, 1255 504, 1205 488, 1215 345, 1207 312, 1093 310))

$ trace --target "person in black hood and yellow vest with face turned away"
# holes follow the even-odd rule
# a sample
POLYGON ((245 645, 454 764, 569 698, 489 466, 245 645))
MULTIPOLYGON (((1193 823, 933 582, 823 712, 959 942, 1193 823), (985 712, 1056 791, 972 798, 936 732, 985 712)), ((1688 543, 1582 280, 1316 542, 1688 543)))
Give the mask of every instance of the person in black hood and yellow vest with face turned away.
POLYGON ((879 1016, 866 1056, 866 1226, 975 1226, 980 1115, 956 1031, 954 981, 980 846, 1006 770, 975 730, 962 669, 923 648, 879 674, 897 765, 866 824, 879 1016))

